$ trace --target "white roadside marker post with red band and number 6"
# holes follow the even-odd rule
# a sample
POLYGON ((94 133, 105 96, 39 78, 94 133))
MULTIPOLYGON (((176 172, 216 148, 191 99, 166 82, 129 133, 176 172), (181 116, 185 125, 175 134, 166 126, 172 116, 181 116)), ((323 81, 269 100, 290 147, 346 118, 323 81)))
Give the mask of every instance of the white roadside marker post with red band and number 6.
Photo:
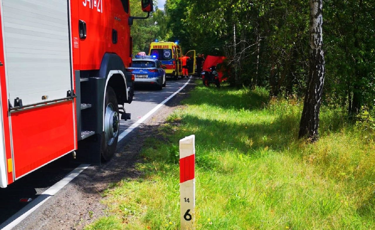
POLYGON ((180 140, 181 230, 194 230, 195 135, 180 140))

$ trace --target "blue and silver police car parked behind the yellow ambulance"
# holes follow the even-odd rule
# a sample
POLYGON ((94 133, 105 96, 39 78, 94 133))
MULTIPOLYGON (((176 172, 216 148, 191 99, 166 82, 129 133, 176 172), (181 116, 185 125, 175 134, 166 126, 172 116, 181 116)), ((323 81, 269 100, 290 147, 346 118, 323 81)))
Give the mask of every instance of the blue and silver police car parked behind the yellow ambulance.
POLYGON ((135 84, 156 85, 161 90, 166 86, 164 68, 156 56, 136 55, 132 67, 127 70, 135 76, 135 84))

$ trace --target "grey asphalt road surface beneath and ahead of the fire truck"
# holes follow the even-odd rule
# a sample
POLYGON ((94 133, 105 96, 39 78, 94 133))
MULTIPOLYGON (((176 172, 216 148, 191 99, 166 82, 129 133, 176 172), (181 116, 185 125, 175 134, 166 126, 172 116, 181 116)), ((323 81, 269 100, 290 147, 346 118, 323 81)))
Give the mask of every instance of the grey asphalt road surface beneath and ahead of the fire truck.
MULTIPOLYGON (((132 104, 125 104, 126 112, 132 113, 132 119, 121 121, 121 132, 141 119, 186 82, 187 79, 180 79, 178 81, 168 80, 166 88, 163 88, 161 91, 151 86, 137 87, 132 104)), ((126 138, 122 141, 126 141, 126 138)), ((0 189, 0 225, 26 206, 27 203, 20 202, 21 198, 35 199, 50 186, 63 179, 78 165, 78 163, 72 160, 71 155, 67 155, 21 178, 9 185, 8 188, 0 189)))

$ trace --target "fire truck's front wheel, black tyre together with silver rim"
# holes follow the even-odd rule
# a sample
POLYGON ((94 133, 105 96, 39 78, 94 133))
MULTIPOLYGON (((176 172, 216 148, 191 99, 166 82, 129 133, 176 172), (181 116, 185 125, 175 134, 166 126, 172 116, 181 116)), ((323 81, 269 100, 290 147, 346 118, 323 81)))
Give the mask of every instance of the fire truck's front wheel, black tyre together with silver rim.
POLYGON ((117 97, 111 86, 107 86, 105 92, 104 108, 104 135, 102 135, 101 156, 103 161, 108 161, 115 153, 120 131, 117 97))

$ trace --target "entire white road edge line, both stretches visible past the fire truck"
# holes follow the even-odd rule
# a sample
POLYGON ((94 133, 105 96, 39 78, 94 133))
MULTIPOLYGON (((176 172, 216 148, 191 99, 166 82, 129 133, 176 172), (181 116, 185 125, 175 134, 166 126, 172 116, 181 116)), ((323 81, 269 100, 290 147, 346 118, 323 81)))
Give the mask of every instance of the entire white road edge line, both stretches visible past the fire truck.
MULTIPOLYGON (((132 126, 127 128, 124 132, 120 134, 118 137, 118 141, 121 141, 124 139, 129 133, 131 133, 136 127, 138 127, 140 124, 144 123, 145 120, 147 120, 151 115, 153 115, 154 112, 160 109, 165 103, 167 103, 169 100, 171 100, 176 94, 181 92, 185 88, 187 84, 189 84, 191 80, 190 79, 174 94, 170 95, 168 98, 166 98, 162 103, 155 106, 150 112, 148 112, 146 115, 144 115, 141 119, 136 121, 132 126)), ((23 221, 28 215, 33 213, 38 207, 42 206, 49 198, 54 196, 60 189, 64 188, 66 185, 68 185, 69 182, 71 182, 75 177, 77 177, 81 172, 83 172, 85 169, 87 169, 90 165, 82 164, 75 168, 71 173, 68 174, 68 176, 64 177, 59 182, 55 183, 52 187, 47 189, 45 192, 40 194, 35 200, 31 201, 30 204, 27 204, 23 209, 19 210, 17 213, 15 213, 12 217, 7 219, 3 224, 0 225, 1 230, 11 230, 12 228, 16 227, 21 221, 23 221)))

